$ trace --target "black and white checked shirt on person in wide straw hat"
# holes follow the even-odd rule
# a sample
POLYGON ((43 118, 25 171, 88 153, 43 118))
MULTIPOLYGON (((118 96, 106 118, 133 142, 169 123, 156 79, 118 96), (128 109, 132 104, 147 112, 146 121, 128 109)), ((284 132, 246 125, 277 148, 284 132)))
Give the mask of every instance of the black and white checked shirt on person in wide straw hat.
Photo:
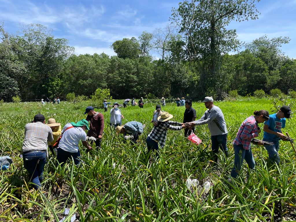
POLYGON ((158 122, 157 126, 152 128, 152 131, 148 134, 150 139, 156 140, 159 142, 160 147, 165 146, 166 133, 168 129, 171 130, 181 130, 183 123, 166 121, 166 122, 158 122), (172 126, 175 125, 175 126, 172 126))

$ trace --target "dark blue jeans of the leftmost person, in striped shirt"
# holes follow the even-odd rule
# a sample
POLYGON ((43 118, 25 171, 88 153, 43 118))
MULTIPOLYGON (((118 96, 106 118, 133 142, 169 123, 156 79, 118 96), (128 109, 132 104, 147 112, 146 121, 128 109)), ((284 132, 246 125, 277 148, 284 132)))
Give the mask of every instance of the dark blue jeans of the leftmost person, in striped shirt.
POLYGON ((28 170, 29 181, 35 189, 41 187, 43 180, 43 168, 46 163, 46 151, 23 152, 24 167, 28 170))

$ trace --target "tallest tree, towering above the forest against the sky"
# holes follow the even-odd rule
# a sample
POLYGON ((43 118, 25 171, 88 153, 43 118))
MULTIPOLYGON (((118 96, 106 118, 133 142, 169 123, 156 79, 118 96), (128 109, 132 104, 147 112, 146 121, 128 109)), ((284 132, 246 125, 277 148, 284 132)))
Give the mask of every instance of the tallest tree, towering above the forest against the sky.
POLYGON ((179 26, 179 33, 183 34, 188 57, 194 62, 199 61, 202 92, 207 87, 216 86, 221 55, 239 45, 236 30, 225 27, 232 20, 241 22, 258 18, 256 1, 259 0, 192 0, 181 2, 178 9, 173 9, 172 19, 179 26), (208 85, 209 80, 214 80, 213 84, 208 85))

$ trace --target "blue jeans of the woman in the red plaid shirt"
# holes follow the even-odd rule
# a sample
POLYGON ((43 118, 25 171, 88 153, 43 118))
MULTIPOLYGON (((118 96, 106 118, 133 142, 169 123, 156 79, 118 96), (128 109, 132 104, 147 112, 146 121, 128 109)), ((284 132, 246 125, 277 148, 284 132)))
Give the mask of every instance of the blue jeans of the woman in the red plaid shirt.
POLYGON ((246 150, 242 147, 242 144, 239 144, 239 145, 233 144, 233 149, 234 149, 234 166, 230 173, 232 177, 234 178, 237 177, 239 171, 242 168, 242 163, 244 160, 246 160, 251 170, 255 169, 255 160, 253 158, 251 148, 249 150, 246 150))

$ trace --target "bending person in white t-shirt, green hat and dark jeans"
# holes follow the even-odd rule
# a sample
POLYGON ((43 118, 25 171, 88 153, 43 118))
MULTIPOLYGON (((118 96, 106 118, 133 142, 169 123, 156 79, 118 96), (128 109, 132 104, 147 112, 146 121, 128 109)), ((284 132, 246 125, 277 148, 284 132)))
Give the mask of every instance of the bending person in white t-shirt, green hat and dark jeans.
POLYGON ((80 120, 77 123, 67 123, 62 130, 62 138, 59 141, 57 148, 57 161, 64 165, 67 160, 73 158, 74 164, 80 163, 80 152, 78 149, 79 141, 86 149, 92 148, 86 141, 85 130, 89 130, 89 122, 87 120, 80 120))

